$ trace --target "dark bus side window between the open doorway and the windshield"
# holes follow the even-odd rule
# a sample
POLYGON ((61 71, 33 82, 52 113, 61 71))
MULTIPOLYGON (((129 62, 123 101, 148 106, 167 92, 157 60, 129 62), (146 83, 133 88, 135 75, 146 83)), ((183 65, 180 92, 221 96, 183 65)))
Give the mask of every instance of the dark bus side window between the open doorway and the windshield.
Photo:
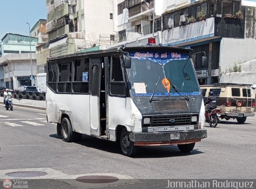
POLYGON ((113 55, 111 57, 110 94, 126 95, 125 82, 119 55, 113 55))

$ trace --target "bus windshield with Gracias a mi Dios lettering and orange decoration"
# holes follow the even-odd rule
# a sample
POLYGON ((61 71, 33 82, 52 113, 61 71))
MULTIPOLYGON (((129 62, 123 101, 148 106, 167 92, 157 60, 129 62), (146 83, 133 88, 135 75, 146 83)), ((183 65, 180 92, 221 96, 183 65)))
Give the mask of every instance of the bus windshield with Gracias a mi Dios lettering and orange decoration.
POLYGON ((129 56, 131 68, 126 68, 126 72, 134 96, 151 96, 159 77, 154 96, 200 94, 188 53, 140 51, 129 52, 129 56))

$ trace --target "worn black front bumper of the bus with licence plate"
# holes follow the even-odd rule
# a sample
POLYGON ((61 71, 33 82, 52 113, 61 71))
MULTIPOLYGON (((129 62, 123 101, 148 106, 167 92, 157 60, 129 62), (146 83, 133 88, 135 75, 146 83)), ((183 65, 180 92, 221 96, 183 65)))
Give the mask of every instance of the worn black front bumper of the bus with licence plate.
POLYGON ((178 132, 130 133, 130 141, 134 145, 176 145, 200 142, 207 137, 206 129, 178 132))

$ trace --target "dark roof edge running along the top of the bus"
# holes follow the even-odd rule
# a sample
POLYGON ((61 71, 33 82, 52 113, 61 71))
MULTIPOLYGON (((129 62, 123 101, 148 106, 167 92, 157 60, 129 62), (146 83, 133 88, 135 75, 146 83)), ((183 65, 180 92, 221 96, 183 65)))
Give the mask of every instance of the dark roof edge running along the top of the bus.
POLYGON ((111 52, 122 52, 126 50, 178 50, 183 51, 187 53, 192 53, 192 49, 187 48, 178 48, 178 47, 169 47, 169 46, 129 46, 129 47, 119 47, 119 48, 110 48, 106 50, 96 50, 96 51, 90 51, 90 52, 82 52, 82 53, 75 53, 75 54, 67 54, 62 56, 54 56, 47 58, 47 60, 56 60, 60 58, 71 58, 71 57, 78 57, 78 56, 84 56, 84 55, 93 55, 93 54, 100 54, 100 53, 111 53, 111 52))

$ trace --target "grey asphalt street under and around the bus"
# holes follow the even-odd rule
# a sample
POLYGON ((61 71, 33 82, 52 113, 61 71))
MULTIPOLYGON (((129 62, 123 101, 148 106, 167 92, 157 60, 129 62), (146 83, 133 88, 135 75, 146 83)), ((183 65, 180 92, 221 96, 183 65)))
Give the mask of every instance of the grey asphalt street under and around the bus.
POLYGON ((191 153, 176 146, 140 147, 136 157, 126 157, 115 142, 86 135, 77 143, 57 138, 56 125, 46 123, 46 111, 2 106, 0 179, 8 169, 42 168, 56 171, 48 178, 116 174, 134 179, 255 179, 256 118, 206 127, 208 137, 191 153))

